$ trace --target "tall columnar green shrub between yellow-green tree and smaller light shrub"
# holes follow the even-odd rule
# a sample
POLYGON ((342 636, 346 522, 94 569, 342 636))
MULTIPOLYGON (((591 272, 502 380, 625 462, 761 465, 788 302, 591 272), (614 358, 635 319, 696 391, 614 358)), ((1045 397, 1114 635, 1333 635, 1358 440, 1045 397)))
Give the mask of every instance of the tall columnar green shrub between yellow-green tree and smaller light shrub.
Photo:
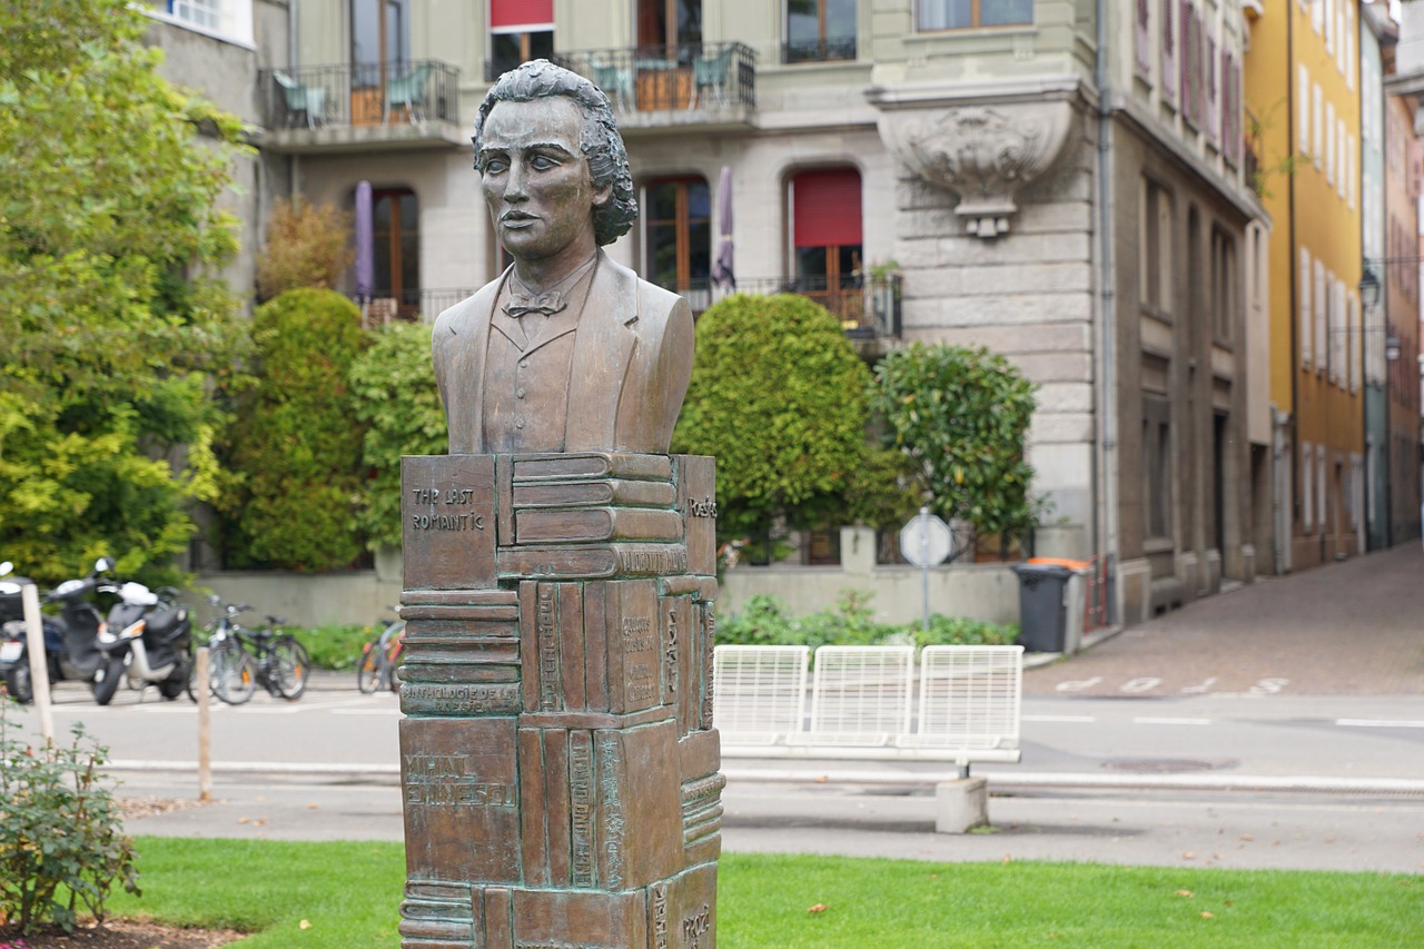
POLYGON ((255 385, 238 399, 228 452, 242 486, 225 499, 228 566, 332 570, 366 549, 352 362, 360 311, 333 291, 293 289, 252 319, 255 385))

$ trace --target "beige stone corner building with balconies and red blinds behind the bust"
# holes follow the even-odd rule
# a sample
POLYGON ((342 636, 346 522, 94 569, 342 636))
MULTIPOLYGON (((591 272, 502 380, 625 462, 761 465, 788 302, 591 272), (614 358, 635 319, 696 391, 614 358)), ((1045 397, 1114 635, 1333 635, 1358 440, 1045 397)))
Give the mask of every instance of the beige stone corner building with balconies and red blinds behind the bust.
POLYGON ((646 279, 726 292, 726 170, 738 289, 822 301, 869 359, 944 341, 1022 368, 1040 551, 1105 557, 1124 618, 1270 561, 1240 0, 168 7, 251 24, 222 41, 249 63, 258 211, 370 184, 373 312, 431 318, 500 271, 468 137, 490 78, 548 56, 614 103, 642 218, 609 252, 646 279))

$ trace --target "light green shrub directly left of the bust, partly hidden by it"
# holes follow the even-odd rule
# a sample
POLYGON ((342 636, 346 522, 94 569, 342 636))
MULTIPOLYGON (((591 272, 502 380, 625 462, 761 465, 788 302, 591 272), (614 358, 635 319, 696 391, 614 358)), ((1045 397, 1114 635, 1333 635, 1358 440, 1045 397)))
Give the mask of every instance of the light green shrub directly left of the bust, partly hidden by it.
POLYGON ((387 323, 350 370, 362 465, 372 477, 356 523, 372 550, 400 546, 400 456, 441 455, 444 409, 430 370, 429 323, 387 323))

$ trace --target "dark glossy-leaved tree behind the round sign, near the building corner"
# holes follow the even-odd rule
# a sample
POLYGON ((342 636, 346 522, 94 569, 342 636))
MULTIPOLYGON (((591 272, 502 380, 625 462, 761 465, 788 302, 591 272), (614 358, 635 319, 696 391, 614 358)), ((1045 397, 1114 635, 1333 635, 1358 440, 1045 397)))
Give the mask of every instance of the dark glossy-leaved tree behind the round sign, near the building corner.
POLYGON ((886 446, 920 466, 936 513, 980 534, 1021 533, 1037 519, 1024 460, 1034 388, 987 349, 914 343, 876 368, 871 409, 886 446))

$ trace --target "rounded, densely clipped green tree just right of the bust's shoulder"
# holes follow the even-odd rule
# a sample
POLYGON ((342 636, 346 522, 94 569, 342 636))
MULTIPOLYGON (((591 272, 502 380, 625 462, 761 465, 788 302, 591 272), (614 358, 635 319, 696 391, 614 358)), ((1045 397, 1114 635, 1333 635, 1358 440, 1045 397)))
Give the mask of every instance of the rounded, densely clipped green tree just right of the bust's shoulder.
POLYGON ((866 457, 870 372, 823 306, 729 296, 698 319, 675 452, 716 456, 719 540, 840 526, 866 457))

